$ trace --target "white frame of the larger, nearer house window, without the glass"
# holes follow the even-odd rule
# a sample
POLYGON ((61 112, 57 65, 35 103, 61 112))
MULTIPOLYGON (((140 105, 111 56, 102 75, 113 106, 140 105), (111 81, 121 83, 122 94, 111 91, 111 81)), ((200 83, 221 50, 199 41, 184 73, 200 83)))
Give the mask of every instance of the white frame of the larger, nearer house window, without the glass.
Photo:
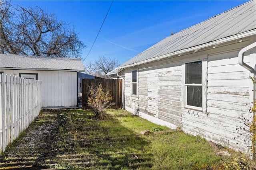
POLYGON ((203 87, 203 81, 204 81, 204 66, 203 66, 203 60, 195 60, 195 61, 188 61, 185 62, 185 69, 184 69, 184 107, 188 108, 188 109, 194 109, 194 110, 198 110, 198 111, 203 111, 203 92, 204 92, 204 87, 203 87), (187 84, 186 83, 186 64, 188 63, 194 63, 194 62, 198 62, 201 61, 201 83, 200 84, 187 84), (197 107, 197 106, 191 106, 187 104, 187 90, 188 90, 188 86, 201 86, 202 90, 201 90, 201 107, 197 107))

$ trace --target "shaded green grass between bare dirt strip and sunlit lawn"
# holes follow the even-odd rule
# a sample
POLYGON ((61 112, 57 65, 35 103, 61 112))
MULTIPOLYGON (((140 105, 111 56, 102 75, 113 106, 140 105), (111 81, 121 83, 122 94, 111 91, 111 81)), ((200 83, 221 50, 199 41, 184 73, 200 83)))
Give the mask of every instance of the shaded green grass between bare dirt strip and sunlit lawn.
POLYGON ((152 167, 152 154, 145 149, 150 142, 122 126, 114 116, 107 115, 104 120, 84 113, 71 116, 77 154, 64 156, 66 163, 78 169, 152 167))

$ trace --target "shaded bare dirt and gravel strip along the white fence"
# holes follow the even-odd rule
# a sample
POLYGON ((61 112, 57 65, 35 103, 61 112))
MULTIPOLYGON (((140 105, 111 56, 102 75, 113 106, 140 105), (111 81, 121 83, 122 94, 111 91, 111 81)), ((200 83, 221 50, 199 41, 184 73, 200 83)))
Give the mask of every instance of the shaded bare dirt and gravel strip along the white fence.
POLYGON ((60 151, 58 149, 60 127, 68 121, 64 112, 64 110, 42 110, 28 129, 1 155, 1 168, 49 168, 46 162, 50 162, 60 151))

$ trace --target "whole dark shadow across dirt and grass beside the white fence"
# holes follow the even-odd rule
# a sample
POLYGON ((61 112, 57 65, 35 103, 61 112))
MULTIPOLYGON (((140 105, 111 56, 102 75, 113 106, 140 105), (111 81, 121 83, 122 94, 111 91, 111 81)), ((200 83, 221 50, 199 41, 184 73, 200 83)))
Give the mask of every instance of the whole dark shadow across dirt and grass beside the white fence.
POLYGON ((1 155, 1 169, 147 169, 149 144, 114 115, 97 120, 92 111, 43 110, 1 155))

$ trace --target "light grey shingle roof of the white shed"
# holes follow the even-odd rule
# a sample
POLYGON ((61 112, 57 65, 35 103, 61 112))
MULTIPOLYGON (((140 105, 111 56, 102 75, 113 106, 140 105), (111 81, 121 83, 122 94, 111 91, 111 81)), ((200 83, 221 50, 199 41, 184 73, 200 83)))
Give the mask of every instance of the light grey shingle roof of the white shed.
POLYGON ((34 70, 84 71, 81 59, 0 54, 0 67, 34 70))

